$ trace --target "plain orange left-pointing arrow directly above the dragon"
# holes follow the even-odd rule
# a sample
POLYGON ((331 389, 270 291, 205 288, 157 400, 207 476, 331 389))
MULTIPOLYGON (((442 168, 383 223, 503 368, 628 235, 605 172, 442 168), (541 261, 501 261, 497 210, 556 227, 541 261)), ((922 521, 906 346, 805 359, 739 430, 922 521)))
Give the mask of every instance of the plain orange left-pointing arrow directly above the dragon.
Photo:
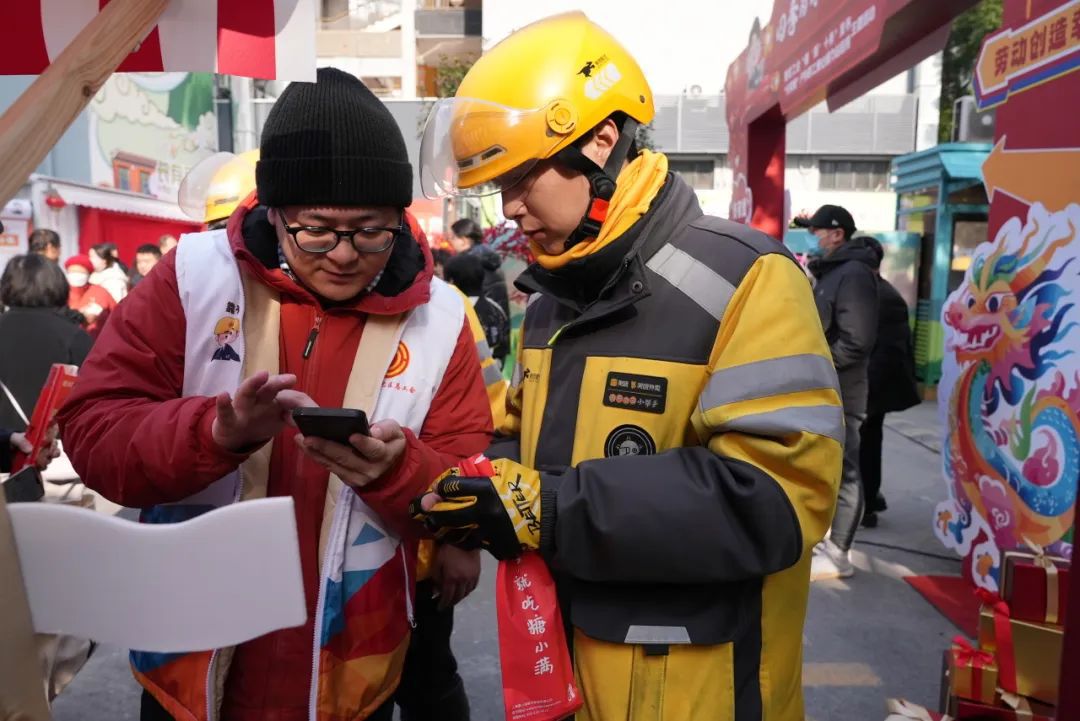
POLYGON ((1080 148, 1005 150, 1002 136, 983 162, 983 183, 991 201, 1001 191, 1051 213, 1064 210, 1080 203, 1080 148))

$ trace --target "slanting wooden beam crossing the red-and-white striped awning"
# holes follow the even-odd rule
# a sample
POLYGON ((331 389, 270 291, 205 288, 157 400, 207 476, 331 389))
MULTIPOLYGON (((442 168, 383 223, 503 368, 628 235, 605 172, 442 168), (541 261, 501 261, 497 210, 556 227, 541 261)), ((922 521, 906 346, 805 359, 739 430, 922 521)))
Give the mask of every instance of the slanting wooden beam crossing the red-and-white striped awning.
POLYGON ((111 0, 0 117, 0 207, 167 5, 168 0, 111 0))

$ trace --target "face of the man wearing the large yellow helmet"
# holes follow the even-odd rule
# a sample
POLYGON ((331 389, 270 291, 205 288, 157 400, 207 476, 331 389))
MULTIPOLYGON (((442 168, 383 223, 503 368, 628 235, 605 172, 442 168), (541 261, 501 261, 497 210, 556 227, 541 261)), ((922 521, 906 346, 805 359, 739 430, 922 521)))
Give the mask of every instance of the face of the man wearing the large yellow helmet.
POLYGON ((541 161, 521 181, 502 191, 502 213, 525 236, 551 256, 566 250, 566 241, 589 209, 589 180, 551 161, 541 161))

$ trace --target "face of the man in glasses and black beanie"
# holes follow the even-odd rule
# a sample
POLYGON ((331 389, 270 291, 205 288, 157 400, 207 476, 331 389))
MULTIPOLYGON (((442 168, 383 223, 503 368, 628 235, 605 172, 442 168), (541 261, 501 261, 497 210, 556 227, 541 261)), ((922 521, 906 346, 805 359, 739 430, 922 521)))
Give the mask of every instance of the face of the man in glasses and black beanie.
MULTIPOLYGON (((393 246, 381 253, 357 253, 342 240, 329 253, 308 253, 297 247, 284 226, 316 226, 335 230, 391 228, 401 223, 401 210, 391 207, 310 207, 291 206, 271 212, 278 242, 293 273, 309 290, 333 302, 360 295, 387 267, 393 246)), ((357 241, 363 239, 356 235, 357 241)))

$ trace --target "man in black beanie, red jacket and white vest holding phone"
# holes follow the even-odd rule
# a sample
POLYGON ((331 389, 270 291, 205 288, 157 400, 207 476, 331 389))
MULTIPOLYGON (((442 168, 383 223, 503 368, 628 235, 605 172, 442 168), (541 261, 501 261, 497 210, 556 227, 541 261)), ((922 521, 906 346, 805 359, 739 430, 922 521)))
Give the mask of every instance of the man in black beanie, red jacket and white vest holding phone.
POLYGON ((389 720, 415 620, 408 501, 492 432, 476 341, 410 230, 401 130, 359 79, 321 68, 285 90, 256 186, 110 317, 64 443, 87 486, 145 522, 294 502, 307 623, 214 653, 133 653, 144 720, 389 720), (369 433, 299 435, 289 411, 315 404, 366 410, 369 433))

